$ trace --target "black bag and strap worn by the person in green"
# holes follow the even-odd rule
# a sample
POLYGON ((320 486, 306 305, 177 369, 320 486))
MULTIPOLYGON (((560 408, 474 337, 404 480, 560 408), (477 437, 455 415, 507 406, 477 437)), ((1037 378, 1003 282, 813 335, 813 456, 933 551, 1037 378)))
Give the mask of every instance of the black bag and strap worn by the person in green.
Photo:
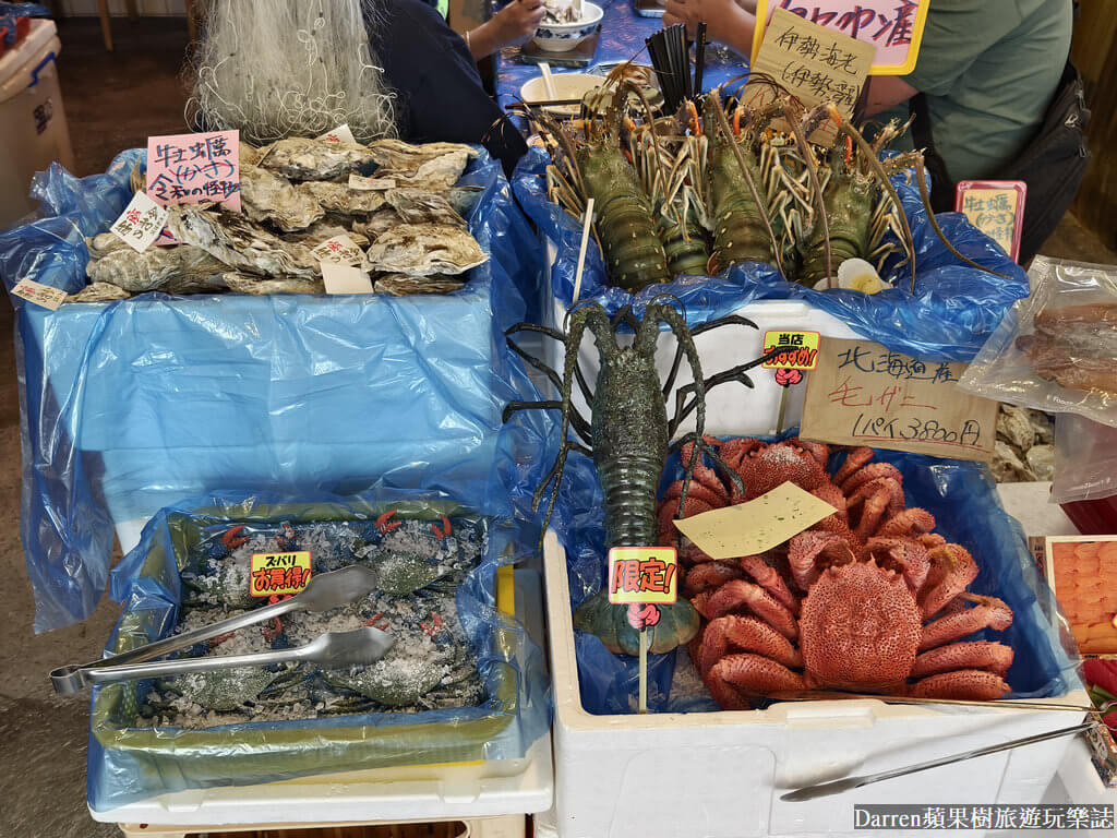
MULTIPOLYGON (((954 179, 946 169, 946 162, 935 151, 924 94, 913 96, 909 108, 915 116, 911 135, 916 146, 925 149, 923 156, 930 172, 930 207, 935 212, 949 212, 954 209, 954 179)), ((1035 136, 1020 156, 1003 170, 983 179, 1022 180, 1028 184, 1024 225, 1020 236, 1021 265, 1039 251, 1078 194, 1090 164, 1090 149, 1086 142, 1089 122, 1082 77, 1068 60, 1043 125, 1035 136)))

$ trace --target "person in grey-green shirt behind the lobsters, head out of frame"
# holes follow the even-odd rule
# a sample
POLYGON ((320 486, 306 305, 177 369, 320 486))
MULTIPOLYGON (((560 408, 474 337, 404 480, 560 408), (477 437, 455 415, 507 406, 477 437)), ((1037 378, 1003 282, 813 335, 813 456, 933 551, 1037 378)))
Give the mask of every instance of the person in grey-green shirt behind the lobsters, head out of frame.
MULTIPOLYGON (((770 4, 780 0, 770 0, 770 4)), ((693 29, 748 55, 756 0, 667 0, 665 23, 693 29)), ((1072 0, 930 0, 915 69, 869 79, 866 116, 908 118, 926 94, 935 147, 955 181, 989 178, 1043 123, 1070 53, 1072 0)), ((911 133, 897 139, 913 147, 911 133)))

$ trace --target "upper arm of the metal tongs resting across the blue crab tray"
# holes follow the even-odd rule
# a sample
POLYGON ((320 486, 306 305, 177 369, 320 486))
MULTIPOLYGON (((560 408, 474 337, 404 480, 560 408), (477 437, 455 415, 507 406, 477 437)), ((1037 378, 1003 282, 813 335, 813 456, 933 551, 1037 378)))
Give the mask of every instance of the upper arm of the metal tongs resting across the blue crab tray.
MULTIPOLYGON (((86 685, 97 680, 103 680, 104 678, 97 678, 94 676, 94 673, 97 673, 98 670, 118 668, 125 664, 140 664, 145 660, 153 660, 154 658, 170 655, 172 651, 188 649, 202 640, 209 640, 210 638, 218 637, 220 635, 227 635, 230 631, 236 631, 237 629, 246 626, 252 626, 257 622, 265 622, 270 620, 273 617, 279 617, 285 613, 290 613, 292 611, 311 611, 312 613, 328 611, 332 608, 340 608, 341 606, 354 602, 362 597, 366 597, 370 592, 375 590, 375 571, 360 564, 351 564, 350 566, 342 568, 341 570, 331 571, 328 573, 319 573, 318 575, 312 577, 311 581, 307 582, 306 588, 283 602, 276 602, 273 606, 266 606, 264 608, 258 608, 255 611, 248 611, 236 617, 230 617, 227 620, 221 620, 220 622, 214 622, 210 626, 202 626, 201 628, 197 628, 192 631, 184 631, 181 635, 174 635, 162 640, 156 640, 155 642, 147 644, 146 646, 123 651, 120 655, 113 655, 102 660, 95 660, 89 664, 70 664, 68 666, 60 666, 50 673, 50 680, 55 686, 55 692, 59 695, 74 695, 75 693, 80 692, 86 685)), ((322 638, 318 639, 321 640, 322 638)), ((317 642, 317 640, 300 648, 307 649, 311 646, 314 646, 315 642, 317 642)), ((298 649, 288 651, 298 651, 298 649)), ((384 651, 388 651, 388 649, 385 648, 384 651)), ((265 653, 265 655, 268 655, 268 653, 265 653)), ((378 659, 382 656, 383 653, 378 656, 378 659)), ((229 657, 211 659, 222 661, 230 660, 229 657)), ((180 664, 185 661, 175 660, 173 663, 180 664)), ((254 663, 251 665, 256 666, 258 664, 254 663)), ((228 664, 225 664, 223 666, 228 666, 228 664)), ((223 668, 223 666, 213 668, 223 668)), ((238 665, 235 664, 233 666, 238 665)), ((245 666, 245 664, 239 664, 239 666, 245 666)), ((126 677, 149 676, 130 675, 126 677)))

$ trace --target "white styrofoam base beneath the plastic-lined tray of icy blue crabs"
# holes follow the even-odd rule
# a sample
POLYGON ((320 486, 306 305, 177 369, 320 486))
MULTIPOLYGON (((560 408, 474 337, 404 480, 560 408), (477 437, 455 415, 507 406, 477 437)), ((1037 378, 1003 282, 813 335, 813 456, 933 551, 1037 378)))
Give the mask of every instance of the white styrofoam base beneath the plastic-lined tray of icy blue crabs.
MULTIPOLYGON (((516 613, 542 645, 540 577, 517 571, 516 613)), ((551 737, 524 759, 418 765, 288 780, 262 785, 195 789, 106 811, 127 836, 182 838, 194 832, 461 821, 470 838, 521 838, 525 815, 552 803, 551 737), (504 763, 504 764, 502 764, 504 763)))

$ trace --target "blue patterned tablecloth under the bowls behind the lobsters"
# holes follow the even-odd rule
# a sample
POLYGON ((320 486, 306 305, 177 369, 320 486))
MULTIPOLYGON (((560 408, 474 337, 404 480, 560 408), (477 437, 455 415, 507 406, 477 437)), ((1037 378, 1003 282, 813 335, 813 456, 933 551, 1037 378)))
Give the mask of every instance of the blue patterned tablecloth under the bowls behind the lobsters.
MULTIPOLYGON (((632 0, 596 0, 604 7, 605 15, 601 21, 601 37, 598 41, 598 54, 594 63, 584 72, 596 73, 601 65, 627 61, 631 58, 640 64, 651 64, 645 48, 645 38, 662 27, 660 18, 645 18, 636 13, 632 0)), ((703 87, 707 91, 723 82, 747 72, 747 61, 724 47, 708 45, 706 48, 706 69, 703 87)), ((571 73, 554 67, 555 73, 571 73)), ((519 88, 531 78, 540 75, 540 68, 533 64, 522 64, 519 48, 510 47, 497 55, 497 101, 502 107, 516 101, 519 88)))

